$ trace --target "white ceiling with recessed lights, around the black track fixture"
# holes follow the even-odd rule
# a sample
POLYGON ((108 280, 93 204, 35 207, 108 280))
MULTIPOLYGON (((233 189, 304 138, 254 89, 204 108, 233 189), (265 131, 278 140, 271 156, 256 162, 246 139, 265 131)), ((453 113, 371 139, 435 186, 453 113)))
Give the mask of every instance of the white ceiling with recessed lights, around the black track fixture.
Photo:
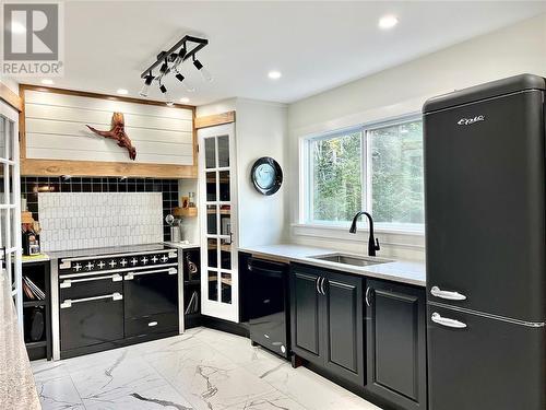
MULTIPOLYGON (((543 1, 67 1, 64 77, 54 81, 107 94, 121 87, 139 97, 140 73, 154 56, 192 34, 210 40, 199 59, 214 81, 203 82, 187 61, 197 91, 185 93, 169 79, 176 99, 290 103, 544 12, 543 1), (381 31, 384 14, 399 24, 381 31), (269 79, 270 70, 282 78, 269 79)), ((150 98, 162 94, 154 87, 150 98)))

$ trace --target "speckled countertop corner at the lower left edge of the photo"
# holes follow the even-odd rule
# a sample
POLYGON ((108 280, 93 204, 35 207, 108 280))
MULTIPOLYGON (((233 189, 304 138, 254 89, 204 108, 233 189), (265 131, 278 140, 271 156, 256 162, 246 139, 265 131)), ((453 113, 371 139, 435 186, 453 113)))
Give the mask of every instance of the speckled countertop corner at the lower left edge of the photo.
POLYGON ((10 291, 8 276, 0 271, 0 407, 38 410, 38 394, 10 291))

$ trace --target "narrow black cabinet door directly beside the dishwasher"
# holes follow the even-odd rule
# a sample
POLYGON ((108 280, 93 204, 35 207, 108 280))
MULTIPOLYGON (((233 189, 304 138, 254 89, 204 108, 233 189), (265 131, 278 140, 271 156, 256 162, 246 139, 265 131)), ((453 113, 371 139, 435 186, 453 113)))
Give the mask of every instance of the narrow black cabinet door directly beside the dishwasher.
POLYGON ((290 272, 292 350, 297 355, 322 364, 319 274, 312 269, 294 268, 290 272))

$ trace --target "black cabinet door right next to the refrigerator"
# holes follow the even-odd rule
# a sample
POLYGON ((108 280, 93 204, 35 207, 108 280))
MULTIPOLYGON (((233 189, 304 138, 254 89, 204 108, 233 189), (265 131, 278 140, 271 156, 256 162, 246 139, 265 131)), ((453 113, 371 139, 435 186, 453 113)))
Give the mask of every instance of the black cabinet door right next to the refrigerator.
POLYGON ((426 409, 425 290, 369 280, 365 300, 366 390, 402 409, 426 409))

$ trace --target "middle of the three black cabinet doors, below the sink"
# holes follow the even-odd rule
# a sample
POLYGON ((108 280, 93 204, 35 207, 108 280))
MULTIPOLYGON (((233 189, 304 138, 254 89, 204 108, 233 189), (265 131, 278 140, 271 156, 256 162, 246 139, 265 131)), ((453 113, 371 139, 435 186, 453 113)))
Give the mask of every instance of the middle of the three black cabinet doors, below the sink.
POLYGON ((364 279, 329 272, 320 284, 324 298, 324 366, 364 385, 364 279))

